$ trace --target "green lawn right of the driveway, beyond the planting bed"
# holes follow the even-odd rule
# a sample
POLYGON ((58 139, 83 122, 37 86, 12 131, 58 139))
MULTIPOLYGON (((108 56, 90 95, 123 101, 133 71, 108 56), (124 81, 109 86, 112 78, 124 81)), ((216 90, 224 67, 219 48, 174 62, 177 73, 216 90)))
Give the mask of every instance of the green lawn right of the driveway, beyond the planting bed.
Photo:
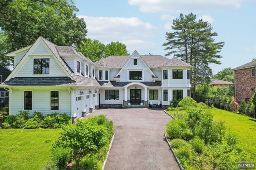
MULTIPOLYGON (((225 125, 237 133, 240 146, 248 154, 248 161, 256 160, 256 119, 226 110, 212 110, 214 121, 224 121, 225 125)), ((174 115, 175 111, 167 111, 174 115)))

